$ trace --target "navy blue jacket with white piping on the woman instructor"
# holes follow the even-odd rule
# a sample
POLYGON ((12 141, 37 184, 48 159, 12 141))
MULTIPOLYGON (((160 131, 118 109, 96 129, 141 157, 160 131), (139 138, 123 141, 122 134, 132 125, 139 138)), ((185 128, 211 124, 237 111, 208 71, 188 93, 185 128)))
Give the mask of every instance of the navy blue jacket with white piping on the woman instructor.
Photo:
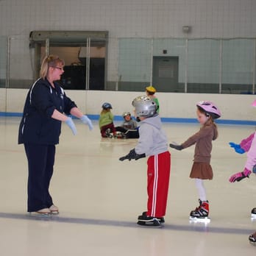
POLYGON ((51 118, 54 110, 70 114, 77 105, 65 96, 63 88, 47 79, 38 79, 26 96, 24 113, 18 130, 18 143, 55 145, 59 143, 61 121, 51 118))

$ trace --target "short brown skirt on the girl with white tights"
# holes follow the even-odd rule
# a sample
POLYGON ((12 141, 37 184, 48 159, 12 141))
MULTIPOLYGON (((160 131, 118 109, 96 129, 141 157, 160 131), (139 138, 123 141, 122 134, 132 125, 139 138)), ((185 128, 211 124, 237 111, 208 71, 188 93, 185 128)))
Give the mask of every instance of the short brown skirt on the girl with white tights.
POLYGON ((213 179, 213 169, 209 163, 193 163, 191 168, 192 179, 213 179))

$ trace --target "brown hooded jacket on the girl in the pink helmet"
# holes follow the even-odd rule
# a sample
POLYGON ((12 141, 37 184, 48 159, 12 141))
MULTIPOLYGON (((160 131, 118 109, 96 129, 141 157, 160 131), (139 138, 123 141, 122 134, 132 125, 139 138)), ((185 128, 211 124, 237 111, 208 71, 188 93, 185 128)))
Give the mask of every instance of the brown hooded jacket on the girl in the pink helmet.
POLYGON ((208 122, 201 127, 199 132, 196 132, 187 141, 182 143, 183 148, 188 148, 196 143, 195 154, 193 161, 197 163, 209 163, 210 153, 212 152, 212 141, 218 137, 218 130, 215 124, 208 122))

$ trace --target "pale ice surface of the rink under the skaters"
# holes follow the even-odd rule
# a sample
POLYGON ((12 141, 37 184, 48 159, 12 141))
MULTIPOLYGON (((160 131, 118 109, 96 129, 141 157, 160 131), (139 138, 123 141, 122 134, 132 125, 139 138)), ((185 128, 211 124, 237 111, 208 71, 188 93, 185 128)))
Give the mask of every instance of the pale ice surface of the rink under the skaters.
MULTIPOLYGON (((138 215, 146 210, 146 158, 118 160, 134 148, 136 139, 102 139, 97 121, 89 131, 75 120, 78 134, 63 124, 57 146, 51 195, 58 216, 40 218, 26 213, 27 162, 18 145, 20 117, 0 117, 0 251, 3 256, 197 256, 255 255, 248 236, 256 230, 251 210, 256 207, 256 177, 230 183, 243 171, 246 154, 229 142, 240 143, 255 127, 218 124, 213 142, 213 180, 205 182, 210 223, 191 223, 198 206, 191 146, 171 152, 171 178, 166 223, 141 227, 138 215)), ((118 123, 116 123, 117 125, 118 123)), ((168 142, 184 142, 199 124, 163 123, 168 142)), ((150 138, 149 138, 150 139, 150 138)))

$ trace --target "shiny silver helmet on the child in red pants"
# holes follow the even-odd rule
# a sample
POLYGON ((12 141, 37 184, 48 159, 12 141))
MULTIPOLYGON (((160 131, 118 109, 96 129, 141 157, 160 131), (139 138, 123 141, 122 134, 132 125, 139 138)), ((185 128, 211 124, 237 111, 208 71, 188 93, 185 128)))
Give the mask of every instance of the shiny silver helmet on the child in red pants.
POLYGON ((157 113, 157 105, 148 96, 138 96, 132 101, 138 117, 150 117, 157 113))

